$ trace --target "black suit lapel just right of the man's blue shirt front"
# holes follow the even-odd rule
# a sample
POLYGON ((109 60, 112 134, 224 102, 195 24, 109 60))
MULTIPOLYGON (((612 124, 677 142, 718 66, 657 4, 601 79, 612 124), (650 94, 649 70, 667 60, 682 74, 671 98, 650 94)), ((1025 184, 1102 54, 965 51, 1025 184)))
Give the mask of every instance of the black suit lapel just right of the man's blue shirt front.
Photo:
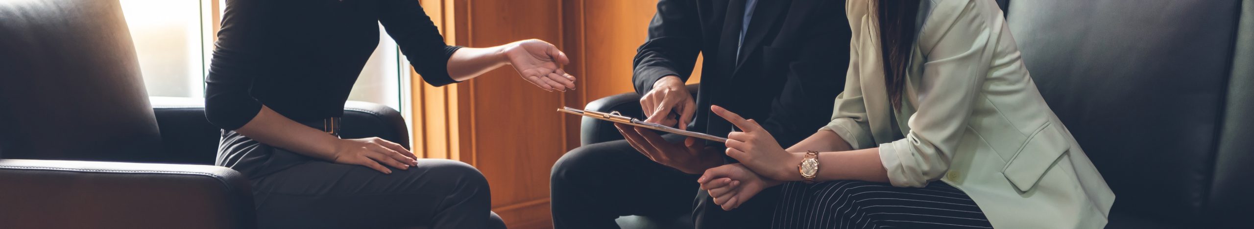
MULTIPOLYGON (((740 68, 745 64, 745 60, 749 59, 749 56, 752 55, 754 51, 759 50, 759 46, 761 46, 762 40, 765 40, 767 35, 771 35, 772 28, 776 28, 777 24, 776 21, 788 15, 784 13, 785 10, 788 10, 790 3, 791 1, 788 0, 757 0, 757 6, 754 9, 754 15, 750 15, 752 16, 752 19, 750 19, 749 21, 749 31, 745 33, 745 41, 744 44, 741 44, 742 49, 740 50, 740 56, 736 59, 735 70, 731 71, 732 75, 740 71, 740 68)), ((741 11, 735 15, 735 18, 737 18, 736 21, 744 21, 744 15, 745 15, 744 5, 745 3, 741 1, 740 3, 741 11)), ((732 16, 729 16, 729 19, 732 16)), ((739 24, 740 23, 737 23, 737 25, 739 24)), ((736 31, 739 33, 740 28, 736 28, 736 31)), ((734 41, 740 40, 739 36, 740 34, 736 35, 737 36, 734 39, 734 41)), ((732 54, 735 55, 735 53, 732 54)))

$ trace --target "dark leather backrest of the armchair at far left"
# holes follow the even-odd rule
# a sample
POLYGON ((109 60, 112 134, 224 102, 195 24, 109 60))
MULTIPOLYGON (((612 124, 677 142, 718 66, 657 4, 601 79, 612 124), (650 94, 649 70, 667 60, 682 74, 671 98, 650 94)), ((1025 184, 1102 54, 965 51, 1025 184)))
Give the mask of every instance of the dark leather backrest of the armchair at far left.
POLYGON ((159 141, 118 0, 0 1, 0 158, 134 160, 159 141))

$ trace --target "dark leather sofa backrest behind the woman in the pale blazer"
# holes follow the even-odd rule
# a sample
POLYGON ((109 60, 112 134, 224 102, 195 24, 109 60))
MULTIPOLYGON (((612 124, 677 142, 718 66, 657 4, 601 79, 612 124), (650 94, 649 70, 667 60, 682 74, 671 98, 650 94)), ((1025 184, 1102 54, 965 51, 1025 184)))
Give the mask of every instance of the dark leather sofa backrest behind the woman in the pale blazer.
MULTIPOLYGON (((1032 78, 1117 195, 1111 224, 1117 214, 1178 226, 1248 220, 1208 213, 1254 204, 1254 38, 1240 24, 1254 15, 1241 1, 1009 1, 1032 78)), ((1226 214, 1239 213, 1249 211, 1226 214)))

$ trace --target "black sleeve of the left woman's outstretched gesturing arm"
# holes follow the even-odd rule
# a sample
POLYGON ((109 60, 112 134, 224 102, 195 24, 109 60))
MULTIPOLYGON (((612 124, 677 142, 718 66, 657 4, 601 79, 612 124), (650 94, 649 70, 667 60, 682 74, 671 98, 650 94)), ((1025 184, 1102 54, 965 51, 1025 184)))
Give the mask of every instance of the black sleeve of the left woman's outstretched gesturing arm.
POLYGON ((449 46, 426 16, 423 6, 415 0, 379 1, 379 23, 387 35, 396 40, 400 51, 414 65, 414 71, 423 75, 423 81, 433 86, 458 83, 449 76, 449 56, 461 46, 449 46))

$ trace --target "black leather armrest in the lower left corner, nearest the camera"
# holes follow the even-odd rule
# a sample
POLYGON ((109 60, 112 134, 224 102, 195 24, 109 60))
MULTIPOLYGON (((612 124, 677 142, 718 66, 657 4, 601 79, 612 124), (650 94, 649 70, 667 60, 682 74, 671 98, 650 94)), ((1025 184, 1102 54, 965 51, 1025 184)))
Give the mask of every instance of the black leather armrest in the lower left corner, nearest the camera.
POLYGON ((211 165, 0 159, 0 228, 255 228, 238 171, 211 165))

